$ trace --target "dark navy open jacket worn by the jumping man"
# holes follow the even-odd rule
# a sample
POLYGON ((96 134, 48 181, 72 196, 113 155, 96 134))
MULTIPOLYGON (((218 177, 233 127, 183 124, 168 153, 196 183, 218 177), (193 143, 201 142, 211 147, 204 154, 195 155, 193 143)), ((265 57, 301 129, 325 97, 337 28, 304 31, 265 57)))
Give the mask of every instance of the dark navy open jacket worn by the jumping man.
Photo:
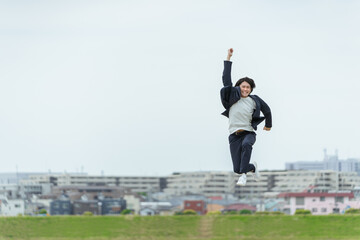
MULTIPOLYGON (((240 87, 232 86, 231 82, 231 65, 232 62, 224 61, 224 72, 223 72, 223 84, 224 87, 220 91, 221 102, 225 108, 225 111, 222 115, 229 117, 230 107, 240 100, 241 93, 240 87)), ((259 125, 265 119, 265 127, 271 128, 271 110, 270 107, 257 95, 249 95, 255 103, 256 109, 253 112, 251 126, 256 130, 257 125, 259 125), (264 117, 260 116, 260 111, 264 114, 264 117)))

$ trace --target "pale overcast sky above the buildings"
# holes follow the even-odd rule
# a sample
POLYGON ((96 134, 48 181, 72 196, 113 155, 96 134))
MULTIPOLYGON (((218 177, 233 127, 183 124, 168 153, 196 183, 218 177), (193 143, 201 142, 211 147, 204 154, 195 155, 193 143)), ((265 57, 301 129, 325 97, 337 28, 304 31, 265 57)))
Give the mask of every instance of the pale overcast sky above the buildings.
POLYGON ((232 171, 219 91, 271 107, 260 170, 360 158, 359 1, 0 1, 1 172, 232 171))

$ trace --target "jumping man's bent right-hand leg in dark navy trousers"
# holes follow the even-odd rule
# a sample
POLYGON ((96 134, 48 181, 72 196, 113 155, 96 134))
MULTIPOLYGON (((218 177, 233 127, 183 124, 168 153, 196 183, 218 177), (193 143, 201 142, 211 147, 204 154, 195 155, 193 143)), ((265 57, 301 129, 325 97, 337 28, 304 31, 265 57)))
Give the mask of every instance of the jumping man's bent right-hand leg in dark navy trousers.
POLYGON ((254 145, 255 141, 256 134, 254 132, 250 132, 243 137, 243 140, 241 142, 241 173, 255 171, 255 166, 250 163, 252 146, 254 145))

